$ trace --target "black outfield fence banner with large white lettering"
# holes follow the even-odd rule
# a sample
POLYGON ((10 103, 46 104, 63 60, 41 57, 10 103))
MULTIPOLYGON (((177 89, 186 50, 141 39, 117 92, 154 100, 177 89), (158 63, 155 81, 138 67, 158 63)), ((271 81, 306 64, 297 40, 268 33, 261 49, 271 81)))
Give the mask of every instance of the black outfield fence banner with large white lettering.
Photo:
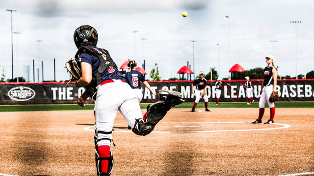
MULTIPOLYGON (((176 90, 182 93, 185 102, 193 102, 192 81, 148 81, 156 92, 159 89, 176 90)), ((222 80, 219 102, 246 102, 246 80, 222 80)), ((258 100, 262 80, 251 80, 253 98, 258 100)), ((210 102, 215 101, 215 81, 208 81, 207 96, 210 102)), ((142 103, 153 103, 158 98, 142 85, 142 103)), ((15 104, 73 104, 84 92, 74 82, 66 86, 65 82, 42 83, 0 83, 0 105, 15 104)), ((314 101, 314 79, 278 80, 279 101, 314 101)), ((202 98, 201 98, 202 101, 202 98)), ((90 101, 92 102, 92 101, 90 101)))

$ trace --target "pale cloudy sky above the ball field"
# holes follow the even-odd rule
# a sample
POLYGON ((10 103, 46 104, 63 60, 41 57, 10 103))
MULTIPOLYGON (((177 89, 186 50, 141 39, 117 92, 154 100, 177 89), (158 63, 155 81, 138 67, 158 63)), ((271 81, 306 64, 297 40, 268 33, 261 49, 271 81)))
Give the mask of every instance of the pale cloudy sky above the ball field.
POLYGON ((275 56, 281 76, 314 70, 313 0, 2 0, 0 71, 10 79, 7 10, 16 10, 13 74, 26 81, 34 81, 32 60, 35 82, 37 68, 42 81, 41 62, 44 79, 53 80, 54 58, 56 80, 68 79, 64 63, 77 51, 73 33, 86 24, 97 29, 97 46, 107 49, 118 66, 129 59, 141 66, 145 59, 146 72, 157 63, 162 79, 178 78, 177 71, 187 63, 196 74, 215 67, 226 78, 235 64, 247 70, 266 66, 268 54, 275 56), (191 41, 196 41, 194 66, 191 41))

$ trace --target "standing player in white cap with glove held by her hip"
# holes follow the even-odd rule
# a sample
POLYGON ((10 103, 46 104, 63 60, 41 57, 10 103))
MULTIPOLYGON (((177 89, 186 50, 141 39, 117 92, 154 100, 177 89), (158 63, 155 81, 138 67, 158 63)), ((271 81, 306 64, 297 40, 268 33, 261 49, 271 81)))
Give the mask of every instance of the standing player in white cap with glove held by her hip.
POLYGON ((264 68, 264 79, 262 81, 262 89, 260 91, 261 97, 259 102, 259 117, 256 121, 252 122, 254 124, 261 124, 262 117, 265 111, 265 103, 267 101, 270 108, 270 118, 264 124, 273 124, 275 116, 275 101, 278 100, 278 91, 276 91, 277 86, 277 69, 274 64, 274 56, 268 55, 265 57, 267 66, 264 68))

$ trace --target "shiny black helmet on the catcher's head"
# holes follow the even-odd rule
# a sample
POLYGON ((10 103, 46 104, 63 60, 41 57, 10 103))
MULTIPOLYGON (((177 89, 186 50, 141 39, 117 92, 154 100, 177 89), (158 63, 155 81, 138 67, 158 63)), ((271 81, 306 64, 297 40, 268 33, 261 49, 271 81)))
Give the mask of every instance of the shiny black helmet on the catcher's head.
POLYGON ((98 33, 90 25, 81 25, 74 31, 74 43, 77 48, 81 46, 96 46, 98 42, 98 33))

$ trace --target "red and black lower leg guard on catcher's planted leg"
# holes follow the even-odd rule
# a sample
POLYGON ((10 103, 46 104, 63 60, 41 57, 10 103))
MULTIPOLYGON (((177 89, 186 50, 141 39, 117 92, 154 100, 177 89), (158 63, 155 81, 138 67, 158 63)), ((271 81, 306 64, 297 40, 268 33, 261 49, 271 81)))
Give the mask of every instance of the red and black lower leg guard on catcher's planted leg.
POLYGON ((110 176, 113 168, 113 156, 110 146, 95 147, 97 176, 110 176))

